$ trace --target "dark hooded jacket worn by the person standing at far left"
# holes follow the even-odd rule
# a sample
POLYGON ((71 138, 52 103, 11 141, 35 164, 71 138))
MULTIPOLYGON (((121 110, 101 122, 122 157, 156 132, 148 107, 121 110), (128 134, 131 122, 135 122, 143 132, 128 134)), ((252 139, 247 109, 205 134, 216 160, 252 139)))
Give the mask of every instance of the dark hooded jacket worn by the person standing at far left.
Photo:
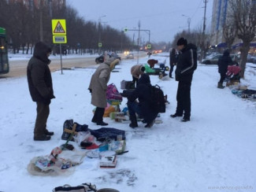
POLYGON ((53 83, 50 74, 50 60, 47 54, 50 47, 43 42, 35 44, 33 57, 28 61, 27 77, 28 88, 33 102, 44 102, 50 104, 50 99, 54 97, 53 83))

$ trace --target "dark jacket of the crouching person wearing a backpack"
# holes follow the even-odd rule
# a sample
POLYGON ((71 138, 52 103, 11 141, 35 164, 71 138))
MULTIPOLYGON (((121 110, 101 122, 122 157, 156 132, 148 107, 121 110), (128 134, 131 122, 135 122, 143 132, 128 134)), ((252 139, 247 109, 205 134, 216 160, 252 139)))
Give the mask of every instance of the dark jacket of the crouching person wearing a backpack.
POLYGON ((139 99, 141 115, 148 123, 158 116, 158 112, 155 112, 150 105, 150 87, 150 77, 147 74, 143 74, 139 78, 138 86, 135 88, 135 90, 133 90, 132 94, 128 96, 128 100, 130 102, 135 102, 137 98, 139 99))

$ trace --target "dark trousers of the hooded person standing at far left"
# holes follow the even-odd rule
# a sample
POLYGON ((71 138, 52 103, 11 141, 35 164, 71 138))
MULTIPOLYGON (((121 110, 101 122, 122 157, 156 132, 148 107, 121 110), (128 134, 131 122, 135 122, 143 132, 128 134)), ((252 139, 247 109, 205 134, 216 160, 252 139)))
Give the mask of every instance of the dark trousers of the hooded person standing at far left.
POLYGON ((36 120, 35 120, 35 128, 34 135, 44 135, 46 131, 46 123, 48 116, 50 114, 50 107, 43 102, 36 102, 36 120))

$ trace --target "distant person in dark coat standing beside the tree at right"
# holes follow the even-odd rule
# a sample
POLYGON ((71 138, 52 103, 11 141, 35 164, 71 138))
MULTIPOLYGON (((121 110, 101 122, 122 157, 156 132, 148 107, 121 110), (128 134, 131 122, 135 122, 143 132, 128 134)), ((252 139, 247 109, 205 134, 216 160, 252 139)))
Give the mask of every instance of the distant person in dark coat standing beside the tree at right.
POLYGON ((224 50, 223 55, 217 61, 217 65, 219 67, 218 71, 221 75, 221 79, 217 83, 217 87, 220 88, 220 89, 223 89, 224 86, 222 84, 223 84, 223 81, 226 77, 226 73, 228 72, 228 65, 232 65, 232 58, 229 56, 229 51, 228 50, 224 50))

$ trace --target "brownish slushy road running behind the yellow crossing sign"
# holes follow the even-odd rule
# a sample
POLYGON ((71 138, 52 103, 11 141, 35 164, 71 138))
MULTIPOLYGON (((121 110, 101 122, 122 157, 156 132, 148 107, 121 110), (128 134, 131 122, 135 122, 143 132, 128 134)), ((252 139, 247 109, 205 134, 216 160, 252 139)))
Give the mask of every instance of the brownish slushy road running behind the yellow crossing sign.
MULTIPOLYGON (((123 54, 120 54, 120 55, 123 60, 124 55, 123 54)), ((146 52, 139 53, 139 57, 146 57, 146 56, 147 56, 146 52)), ((62 57, 62 68, 90 68, 96 65, 95 57, 72 57, 72 58, 62 57)), ((28 60, 9 61, 9 73, 1 75, 0 78, 26 76, 27 65, 28 65, 28 60)), ((61 59, 60 58, 52 59, 49 67, 51 72, 61 70, 61 59)))

